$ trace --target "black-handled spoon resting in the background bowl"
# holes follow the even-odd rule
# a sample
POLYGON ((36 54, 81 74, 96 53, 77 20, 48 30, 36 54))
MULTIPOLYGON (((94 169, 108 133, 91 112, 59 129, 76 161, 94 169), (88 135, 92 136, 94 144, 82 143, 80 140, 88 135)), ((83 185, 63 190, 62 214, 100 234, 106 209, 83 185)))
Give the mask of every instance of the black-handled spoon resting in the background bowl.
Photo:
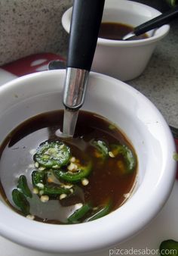
POLYGON ((122 40, 133 40, 136 36, 140 36, 149 30, 161 27, 162 25, 169 23, 171 20, 176 19, 176 17, 178 17, 178 7, 170 9, 170 11, 167 11, 164 14, 161 14, 152 20, 146 21, 140 26, 135 27, 133 31, 124 36, 122 40))

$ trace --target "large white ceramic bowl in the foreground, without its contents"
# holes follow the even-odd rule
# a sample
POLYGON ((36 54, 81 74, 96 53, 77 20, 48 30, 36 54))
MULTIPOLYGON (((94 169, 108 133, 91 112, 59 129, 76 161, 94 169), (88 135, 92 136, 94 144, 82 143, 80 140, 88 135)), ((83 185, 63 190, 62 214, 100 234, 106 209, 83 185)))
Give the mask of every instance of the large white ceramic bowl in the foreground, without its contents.
MULTIPOLYGON (((65 70, 22 76, 0 87, 0 142, 19 123, 63 108, 65 70)), ((161 210, 173 186, 176 162, 173 137, 152 102, 127 84, 91 73, 83 109, 115 122, 137 151, 139 170, 133 196, 106 217, 90 223, 39 223, 0 201, 0 234, 41 251, 84 253, 129 239, 161 210)))

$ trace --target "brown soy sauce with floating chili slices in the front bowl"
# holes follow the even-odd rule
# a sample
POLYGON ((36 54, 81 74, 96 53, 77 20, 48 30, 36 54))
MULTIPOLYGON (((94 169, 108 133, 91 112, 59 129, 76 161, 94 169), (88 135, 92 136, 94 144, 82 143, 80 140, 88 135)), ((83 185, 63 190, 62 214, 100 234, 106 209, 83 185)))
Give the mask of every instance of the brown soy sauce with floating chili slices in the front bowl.
POLYGON ((80 111, 73 139, 55 135, 62 125, 63 111, 52 111, 7 136, 0 148, 2 196, 14 211, 46 223, 103 217, 133 189, 136 154, 118 128, 97 114, 80 111), (51 166, 49 156, 56 159, 58 149, 66 162, 51 166), (72 180, 64 179, 66 173, 72 180))

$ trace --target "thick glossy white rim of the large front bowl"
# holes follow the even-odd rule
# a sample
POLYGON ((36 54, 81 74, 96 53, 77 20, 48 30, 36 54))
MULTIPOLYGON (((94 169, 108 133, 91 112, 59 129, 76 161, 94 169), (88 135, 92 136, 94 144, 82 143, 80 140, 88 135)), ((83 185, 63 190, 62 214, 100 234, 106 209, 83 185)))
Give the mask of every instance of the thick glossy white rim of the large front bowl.
MULTIPOLYGON (((29 83, 35 89, 38 87, 36 86, 36 83, 40 81, 54 82, 54 80, 60 80, 61 82, 64 80, 65 72, 65 70, 42 71, 12 80, 11 82, 6 83, 4 86, 0 86, 0 99, 4 97, 4 95, 10 97, 10 92, 14 92, 14 89, 20 90, 22 86, 23 91, 25 92, 29 83)), ((133 197, 127 201, 127 204, 122 205, 121 211, 118 209, 113 211, 111 214, 100 218, 99 220, 92 221, 91 223, 60 226, 48 223, 38 223, 36 221, 32 222, 32 220, 28 220, 26 217, 22 217, 20 214, 15 213, 4 203, 2 203, 2 201, 0 201, 1 214, 4 216, 3 218, 0 218, 0 234, 5 238, 10 239, 13 242, 17 242, 20 245, 35 248, 40 251, 53 251, 61 253, 81 253, 91 250, 94 251, 99 248, 111 246, 117 242, 123 242, 124 239, 128 238, 128 236, 133 236, 133 234, 137 233, 140 229, 143 229, 143 226, 146 226, 146 224, 149 223, 149 221, 152 220, 156 214, 158 214, 158 211, 160 211, 160 208, 167 200, 170 190, 173 187, 173 181, 176 175, 176 163, 173 161, 173 158, 170 159, 170 155, 175 150, 175 145, 173 142, 173 136, 170 133, 170 129, 161 113, 157 108, 155 108, 155 105, 153 105, 149 99, 126 83, 116 80, 110 76, 94 72, 91 72, 90 80, 105 80, 107 84, 113 84, 113 88, 117 88, 117 90, 124 90, 125 92, 133 95, 133 97, 142 99, 142 101, 150 106, 150 110, 155 111, 155 114, 158 116, 158 120, 162 124, 162 137, 164 138, 164 142, 166 142, 167 146, 163 149, 164 155, 166 155, 166 158, 163 161, 164 171, 160 171, 154 188, 152 188, 149 196, 145 198, 141 207, 132 212, 132 216, 130 216, 131 211, 129 210, 133 209, 134 202, 140 200, 138 193, 133 195, 133 197), (170 168, 172 172, 166 172, 167 168, 170 168), (163 186, 165 184, 167 185, 163 186), (164 191, 162 189, 163 187, 164 191), (155 194, 159 195, 159 201, 158 204, 152 207, 152 200, 155 200, 155 194), (115 223, 113 220, 118 220, 119 217, 121 217, 121 213, 125 214, 125 220, 123 223, 115 223), (138 224, 137 221, 133 221, 134 218, 140 218, 140 223, 138 224), (129 220, 127 225, 125 225, 126 220, 129 220), (9 222, 11 222, 11 225, 9 225, 9 222), (109 223, 109 225, 107 223, 109 223), (103 234, 102 239, 100 239, 101 234, 103 234), (80 238, 80 245, 78 245, 78 238, 80 238), (70 246, 69 241, 72 242, 72 245, 70 246)), ((39 86, 42 88, 40 84, 39 86)), ((96 84, 94 86, 96 86, 96 84)), ((51 92, 51 90, 54 89, 57 91, 57 85, 54 86, 53 83, 51 83, 51 87, 48 88, 48 92, 51 92)), ((36 90, 38 92, 38 89, 36 90)), ((22 98, 23 97, 26 96, 22 94, 22 98)), ((18 100, 20 101, 20 98, 18 100)), ((9 103, 6 101, 5 104, 8 105, 9 103)), ((147 180, 148 179, 149 178, 147 177, 147 180)), ((143 195, 146 193, 146 188, 144 188, 143 184, 140 186, 140 195, 142 195, 142 193, 143 195)))

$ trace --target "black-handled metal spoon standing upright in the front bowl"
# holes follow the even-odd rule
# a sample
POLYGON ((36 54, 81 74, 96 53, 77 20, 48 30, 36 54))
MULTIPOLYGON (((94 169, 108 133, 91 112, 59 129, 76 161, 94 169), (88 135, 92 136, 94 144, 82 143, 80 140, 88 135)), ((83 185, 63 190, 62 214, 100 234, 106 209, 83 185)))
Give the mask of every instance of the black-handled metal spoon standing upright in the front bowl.
POLYGON ((73 136, 78 110, 84 103, 105 0, 75 0, 69 33, 63 105, 63 133, 73 136))

